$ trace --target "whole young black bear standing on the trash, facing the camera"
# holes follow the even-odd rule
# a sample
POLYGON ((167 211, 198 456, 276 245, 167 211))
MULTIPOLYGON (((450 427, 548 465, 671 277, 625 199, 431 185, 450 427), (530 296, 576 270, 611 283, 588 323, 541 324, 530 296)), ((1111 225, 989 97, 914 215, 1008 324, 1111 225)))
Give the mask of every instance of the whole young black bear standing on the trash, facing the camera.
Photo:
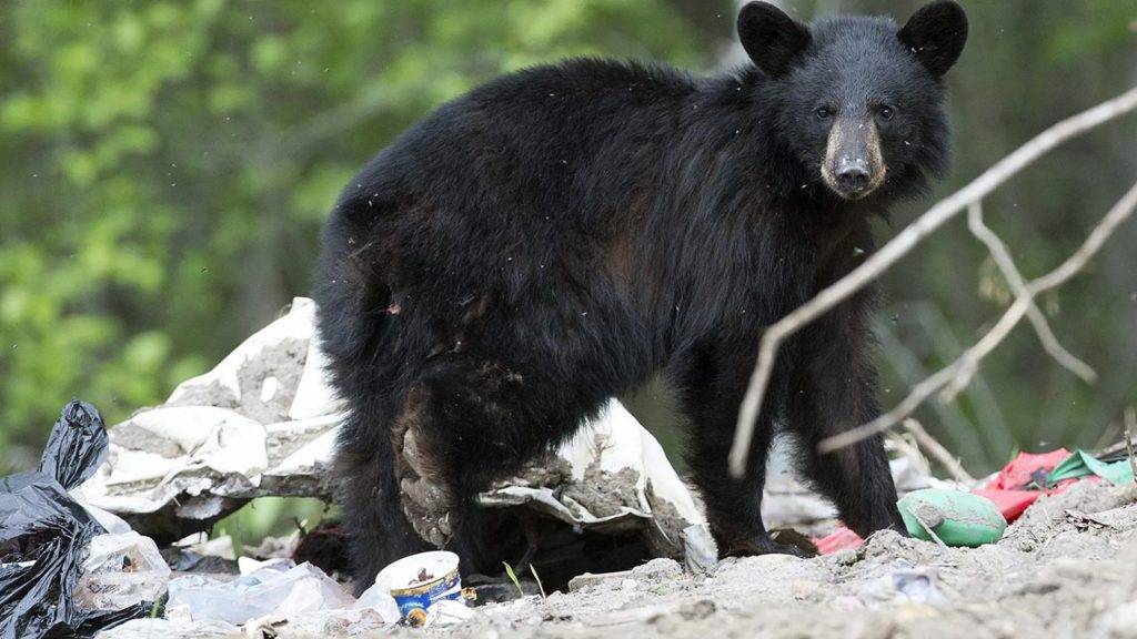
POLYGON ((787 551, 760 514, 775 428, 853 530, 903 530, 879 439, 814 446, 878 414, 871 293, 781 350, 745 479, 727 453, 763 329, 860 264, 871 216, 945 168, 943 76, 966 30, 951 1, 903 27, 750 2, 753 64, 735 73, 530 68, 379 153, 331 214, 316 282, 350 407, 337 479, 358 586, 424 537, 475 570, 473 496, 657 370, 723 554, 787 551))

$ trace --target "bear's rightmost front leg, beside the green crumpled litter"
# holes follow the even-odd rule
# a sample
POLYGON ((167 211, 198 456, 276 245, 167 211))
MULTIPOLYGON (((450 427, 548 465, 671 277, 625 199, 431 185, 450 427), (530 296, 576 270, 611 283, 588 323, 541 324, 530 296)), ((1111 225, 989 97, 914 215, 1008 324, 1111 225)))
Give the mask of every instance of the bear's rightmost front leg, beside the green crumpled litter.
POLYGON ((880 414, 866 297, 830 310, 797 338, 786 406, 787 425, 803 445, 804 474, 861 537, 905 530, 883 440, 878 434, 827 454, 818 443, 880 414))

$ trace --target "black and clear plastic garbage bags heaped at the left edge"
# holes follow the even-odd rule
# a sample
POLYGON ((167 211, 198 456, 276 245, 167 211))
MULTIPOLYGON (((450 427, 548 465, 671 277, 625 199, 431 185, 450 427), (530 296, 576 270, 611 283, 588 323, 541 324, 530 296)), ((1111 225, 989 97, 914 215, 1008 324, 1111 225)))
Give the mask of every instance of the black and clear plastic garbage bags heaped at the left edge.
POLYGON ((0 638, 90 637, 148 615, 165 591, 153 541, 68 492, 106 455, 99 412, 72 401, 39 470, 0 479, 0 638))

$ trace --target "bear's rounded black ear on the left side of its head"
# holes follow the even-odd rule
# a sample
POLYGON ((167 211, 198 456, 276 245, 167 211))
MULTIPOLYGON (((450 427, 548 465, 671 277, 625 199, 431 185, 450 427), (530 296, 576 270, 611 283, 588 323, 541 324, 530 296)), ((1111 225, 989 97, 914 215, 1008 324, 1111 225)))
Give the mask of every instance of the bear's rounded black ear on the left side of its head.
POLYGON ((810 30, 766 2, 749 2, 738 13, 738 39, 754 64, 779 77, 810 47, 810 30))

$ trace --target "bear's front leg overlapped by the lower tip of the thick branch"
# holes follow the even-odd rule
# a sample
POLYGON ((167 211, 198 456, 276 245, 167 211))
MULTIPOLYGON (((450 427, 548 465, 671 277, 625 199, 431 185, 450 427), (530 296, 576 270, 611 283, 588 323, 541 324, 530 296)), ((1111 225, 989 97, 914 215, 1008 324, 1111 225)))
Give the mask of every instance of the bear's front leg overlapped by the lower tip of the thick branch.
POLYGON ((762 523, 762 488, 766 454, 773 438, 769 409, 758 416, 746 473, 730 475, 727 456, 733 440, 738 407, 754 365, 754 339, 707 340, 672 363, 681 409, 688 421, 688 464, 706 504, 707 522, 721 556, 782 553, 794 546, 770 539, 762 523))

